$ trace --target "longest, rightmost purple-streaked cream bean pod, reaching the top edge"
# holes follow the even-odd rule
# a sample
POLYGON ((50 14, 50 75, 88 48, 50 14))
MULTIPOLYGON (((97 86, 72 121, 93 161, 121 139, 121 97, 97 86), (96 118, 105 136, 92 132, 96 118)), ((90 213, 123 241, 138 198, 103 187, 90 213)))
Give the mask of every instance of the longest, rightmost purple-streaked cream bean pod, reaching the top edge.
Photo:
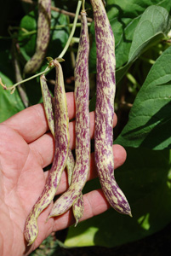
POLYGON ((90 0, 94 10, 97 53, 94 155, 100 184, 111 207, 131 216, 128 201, 114 177, 112 152, 115 82, 115 41, 101 0, 90 0))

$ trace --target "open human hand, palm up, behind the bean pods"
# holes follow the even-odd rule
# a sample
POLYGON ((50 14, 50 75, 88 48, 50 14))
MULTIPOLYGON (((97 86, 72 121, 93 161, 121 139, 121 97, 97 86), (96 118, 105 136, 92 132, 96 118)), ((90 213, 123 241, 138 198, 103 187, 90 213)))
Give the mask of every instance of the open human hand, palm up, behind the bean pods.
MULTIPOLYGON (((69 119, 75 117, 73 93, 67 93, 69 119)), ((114 117, 113 125, 117 124, 114 117)), ((58 218, 48 218, 53 207, 51 203, 39 216, 37 240, 26 246, 23 231, 26 217, 37 197, 44 188, 48 172, 43 168, 53 160, 54 139, 48 132, 48 123, 43 105, 26 108, 0 124, 0 255, 28 255, 50 235, 52 231, 62 230, 74 224, 71 211, 58 218)), ((90 113, 91 137, 94 137, 94 113, 90 113)), ((70 148, 75 147, 74 123, 70 123, 70 148)), ((126 152, 119 145, 113 146, 115 167, 123 165, 126 152)), ((88 179, 96 177, 94 155, 90 163, 88 179)), ((58 194, 66 191, 66 172, 63 173, 58 194)), ((83 196, 84 214, 81 220, 105 212, 110 206, 101 190, 94 190, 83 196)))

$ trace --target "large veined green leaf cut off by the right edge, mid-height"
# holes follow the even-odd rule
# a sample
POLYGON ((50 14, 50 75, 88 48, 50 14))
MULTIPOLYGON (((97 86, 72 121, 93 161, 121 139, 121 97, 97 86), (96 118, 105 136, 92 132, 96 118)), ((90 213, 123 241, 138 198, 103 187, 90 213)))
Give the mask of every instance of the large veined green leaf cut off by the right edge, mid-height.
POLYGON ((171 145, 171 47, 151 67, 116 143, 153 149, 171 145))

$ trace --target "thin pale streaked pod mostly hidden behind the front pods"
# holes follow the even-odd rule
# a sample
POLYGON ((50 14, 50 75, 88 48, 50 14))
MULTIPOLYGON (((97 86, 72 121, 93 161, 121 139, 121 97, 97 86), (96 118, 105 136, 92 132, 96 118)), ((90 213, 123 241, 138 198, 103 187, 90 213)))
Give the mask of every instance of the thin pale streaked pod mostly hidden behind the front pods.
MULTIPOLYGON (((48 90, 48 84, 46 83, 45 76, 42 75, 40 78, 41 90, 43 94, 43 104, 44 110, 46 113, 46 117, 48 120, 48 127, 54 136, 54 101, 50 92, 48 90)), ((72 173, 75 166, 75 160, 73 154, 71 153, 71 149, 68 151, 68 158, 66 160, 66 169, 68 174, 68 183, 71 184, 72 173)), ((83 216, 83 195, 78 196, 77 201, 72 206, 73 214, 76 219, 76 225, 80 218, 83 216)))

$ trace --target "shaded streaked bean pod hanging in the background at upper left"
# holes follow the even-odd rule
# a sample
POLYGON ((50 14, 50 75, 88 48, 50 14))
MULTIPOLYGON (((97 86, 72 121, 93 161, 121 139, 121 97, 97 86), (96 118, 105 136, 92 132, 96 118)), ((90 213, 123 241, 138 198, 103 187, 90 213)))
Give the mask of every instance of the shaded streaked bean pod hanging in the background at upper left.
POLYGON ((51 0, 38 0, 37 46, 35 54, 26 62, 24 73, 36 73, 41 67, 50 39, 51 0))

